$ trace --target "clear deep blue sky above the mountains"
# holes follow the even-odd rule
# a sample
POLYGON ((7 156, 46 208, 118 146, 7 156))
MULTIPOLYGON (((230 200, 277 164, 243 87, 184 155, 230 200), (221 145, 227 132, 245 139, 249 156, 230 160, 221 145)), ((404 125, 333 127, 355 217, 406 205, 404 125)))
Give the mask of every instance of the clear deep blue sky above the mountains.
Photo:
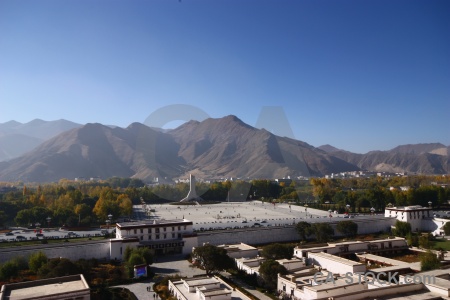
POLYGON ((449 16, 447 0, 0 0, 0 123, 126 127, 188 104, 254 126, 279 106, 314 146, 449 145, 449 16))

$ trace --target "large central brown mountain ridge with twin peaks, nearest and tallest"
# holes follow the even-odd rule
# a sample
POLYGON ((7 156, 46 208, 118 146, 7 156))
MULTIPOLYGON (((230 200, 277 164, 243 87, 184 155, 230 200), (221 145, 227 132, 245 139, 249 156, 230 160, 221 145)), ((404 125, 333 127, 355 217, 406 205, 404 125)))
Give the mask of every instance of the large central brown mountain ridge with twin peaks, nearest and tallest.
POLYGON ((357 169, 301 141, 251 127, 234 116, 190 121, 169 132, 143 124, 86 124, 0 164, 2 181, 112 176, 274 178, 357 169))

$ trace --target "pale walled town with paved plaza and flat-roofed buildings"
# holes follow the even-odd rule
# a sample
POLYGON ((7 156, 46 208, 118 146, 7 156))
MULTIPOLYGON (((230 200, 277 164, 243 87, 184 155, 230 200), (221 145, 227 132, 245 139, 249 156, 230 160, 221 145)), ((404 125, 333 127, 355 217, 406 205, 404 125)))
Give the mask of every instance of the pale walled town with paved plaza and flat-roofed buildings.
MULTIPOLYGON (((311 199, 205 201, 195 176, 186 183, 180 201, 141 197, 129 217, 108 214, 98 228, 55 227, 50 217, 5 228, 0 274, 28 261, 38 276, 48 275, 3 277, 0 299, 96 299, 92 274, 51 277, 46 265, 64 268, 61 261, 128 270, 129 279, 110 271, 117 278, 102 280, 137 299, 450 299, 446 202, 356 209, 311 199)), ((432 188, 448 191, 444 183, 432 188)))

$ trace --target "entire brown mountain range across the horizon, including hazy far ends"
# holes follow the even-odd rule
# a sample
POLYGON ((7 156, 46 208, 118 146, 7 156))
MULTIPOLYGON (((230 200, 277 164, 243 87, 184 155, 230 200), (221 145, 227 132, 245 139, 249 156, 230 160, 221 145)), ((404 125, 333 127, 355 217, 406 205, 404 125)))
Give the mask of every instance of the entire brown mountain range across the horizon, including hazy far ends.
POLYGON ((14 121, 0 124, 0 153, 16 154, 0 162, 0 181, 118 176, 171 182, 189 173, 198 178, 252 179, 357 170, 425 174, 450 170, 450 148, 442 144, 355 154, 276 136, 235 116, 189 121, 170 131, 141 123, 127 128, 65 120, 30 123, 33 126, 14 121))

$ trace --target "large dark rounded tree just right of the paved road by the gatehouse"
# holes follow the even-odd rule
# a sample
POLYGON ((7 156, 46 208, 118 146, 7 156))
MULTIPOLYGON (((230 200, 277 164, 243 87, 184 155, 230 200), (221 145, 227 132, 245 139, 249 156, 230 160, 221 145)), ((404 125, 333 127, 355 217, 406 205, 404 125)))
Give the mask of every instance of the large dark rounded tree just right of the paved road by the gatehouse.
POLYGON ((227 255, 227 251, 213 245, 196 247, 192 252, 193 259, 212 275, 233 266, 233 260, 227 255))

